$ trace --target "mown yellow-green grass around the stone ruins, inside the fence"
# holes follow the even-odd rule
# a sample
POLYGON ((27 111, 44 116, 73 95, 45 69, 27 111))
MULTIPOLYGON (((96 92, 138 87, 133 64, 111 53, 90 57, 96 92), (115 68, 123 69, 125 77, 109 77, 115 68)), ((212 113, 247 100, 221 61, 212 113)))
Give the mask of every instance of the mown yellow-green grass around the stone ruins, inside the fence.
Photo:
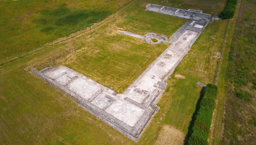
MULTIPOLYGON (((92 31, 0 66, 0 144, 135 144, 31 71, 66 65, 122 92, 169 44, 145 44, 116 30, 169 37, 186 22, 144 11, 150 2, 138 1, 92 31)), ((197 8, 201 5, 193 6, 197 8)), ((219 12, 213 8, 209 11, 219 12)), ((217 61, 212 54, 219 51, 226 26, 227 20, 210 23, 192 46, 168 79, 166 92, 158 102, 160 110, 138 144, 154 144, 163 135, 163 125, 171 125, 186 135, 200 96, 201 87, 196 82, 212 82, 217 61), (175 78, 176 74, 186 78, 175 78)))

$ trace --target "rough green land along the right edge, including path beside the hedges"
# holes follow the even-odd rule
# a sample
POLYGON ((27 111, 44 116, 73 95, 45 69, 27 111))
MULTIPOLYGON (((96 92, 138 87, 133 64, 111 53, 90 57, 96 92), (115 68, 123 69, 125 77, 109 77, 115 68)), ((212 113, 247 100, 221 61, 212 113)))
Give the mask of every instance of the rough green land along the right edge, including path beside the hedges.
POLYGON ((221 71, 212 144, 253 144, 255 138, 255 3, 238 0, 230 20, 221 71))

